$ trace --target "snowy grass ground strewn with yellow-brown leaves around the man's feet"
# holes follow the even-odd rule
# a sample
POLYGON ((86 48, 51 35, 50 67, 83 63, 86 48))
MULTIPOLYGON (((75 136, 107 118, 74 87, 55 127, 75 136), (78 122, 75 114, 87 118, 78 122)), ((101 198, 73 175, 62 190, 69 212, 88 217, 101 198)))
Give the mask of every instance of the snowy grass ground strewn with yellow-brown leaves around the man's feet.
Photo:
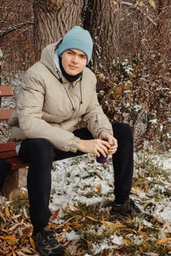
MULTIPOLYGON (((114 200, 111 157, 104 165, 91 154, 54 162, 50 227, 65 246, 66 256, 171 255, 170 169, 169 152, 156 154, 148 150, 134 154, 131 197, 142 211, 153 214, 154 221, 118 220, 111 219, 109 214, 114 200)), ((8 240, 12 238, 15 255, 38 256, 29 240, 32 226, 26 206, 24 211, 20 208, 24 217, 19 220, 21 214, 13 213, 12 202, 4 202, 1 197, 0 201, 4 219, 0 254, 13 252, 14 244, 8 240), (28 234, 24 240, 23 233, 28 234)))

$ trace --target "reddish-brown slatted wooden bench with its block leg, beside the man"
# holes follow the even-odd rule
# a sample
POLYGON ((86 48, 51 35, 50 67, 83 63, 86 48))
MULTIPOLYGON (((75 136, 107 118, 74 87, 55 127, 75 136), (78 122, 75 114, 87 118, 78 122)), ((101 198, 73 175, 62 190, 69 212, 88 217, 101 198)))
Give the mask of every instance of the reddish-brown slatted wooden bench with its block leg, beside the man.
MULTIPOLYGON (((0 121, 8 121, 15 108, 1 108, 1 103, 4 98, 15 97, 12 91, 12 86, 0 86, 0 121)), ((0 157, 11 164, 11 173, 7 177, 4 184, 5 194, 9 194, 12 189, 23 187, 26 185, 26 164, 20 161, 15 151, 15 142, 0 143, 0 157)))

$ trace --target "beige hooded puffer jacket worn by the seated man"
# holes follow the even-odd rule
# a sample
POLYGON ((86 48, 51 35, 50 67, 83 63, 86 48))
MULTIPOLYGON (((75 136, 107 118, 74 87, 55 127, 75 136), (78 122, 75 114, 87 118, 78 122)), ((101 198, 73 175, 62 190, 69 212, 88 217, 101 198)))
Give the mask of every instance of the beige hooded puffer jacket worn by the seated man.
POLYGON ((102 130, 113 134, 96 96, 96 77, 90 69, 69 83, 54 61, 56 43, 42 50, 40 61, 26 72, 12 115, 12 140, 46 138, 62 151, 77 151, 73 131, 87 127, 94 138, 102 130), (61 78, 61 79, 60 79, 61 78))

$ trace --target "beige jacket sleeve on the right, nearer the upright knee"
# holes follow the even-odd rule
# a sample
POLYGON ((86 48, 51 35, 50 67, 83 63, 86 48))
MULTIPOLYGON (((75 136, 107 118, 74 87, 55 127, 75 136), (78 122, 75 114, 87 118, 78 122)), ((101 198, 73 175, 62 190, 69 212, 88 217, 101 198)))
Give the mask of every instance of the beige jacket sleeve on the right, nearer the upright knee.
POLYGON ((94 138, 98 138, 99 133, 102 131, 109 132, 111 135, 113 135, 112 125, 110 124, 107 116, 104 114, 102 107, 99 105, 99 101, 97 99, 96 79, 93 84, 94 88, 83 121, 86 121, 88 130, 91 132, 94 138))

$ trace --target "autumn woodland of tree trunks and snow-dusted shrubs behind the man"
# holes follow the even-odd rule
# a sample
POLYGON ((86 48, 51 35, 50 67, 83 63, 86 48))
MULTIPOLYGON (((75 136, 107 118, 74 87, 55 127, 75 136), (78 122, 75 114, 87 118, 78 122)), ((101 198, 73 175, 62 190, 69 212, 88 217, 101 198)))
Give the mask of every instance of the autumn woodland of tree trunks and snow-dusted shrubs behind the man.
POLYGON ((168 149, 170 12, 170 0, 1 0, 1 84, 17 94, 42 48, 83 26, 94 39, 89 67, 104 112, 132 126, 135 149, 145 140, 168 149))

